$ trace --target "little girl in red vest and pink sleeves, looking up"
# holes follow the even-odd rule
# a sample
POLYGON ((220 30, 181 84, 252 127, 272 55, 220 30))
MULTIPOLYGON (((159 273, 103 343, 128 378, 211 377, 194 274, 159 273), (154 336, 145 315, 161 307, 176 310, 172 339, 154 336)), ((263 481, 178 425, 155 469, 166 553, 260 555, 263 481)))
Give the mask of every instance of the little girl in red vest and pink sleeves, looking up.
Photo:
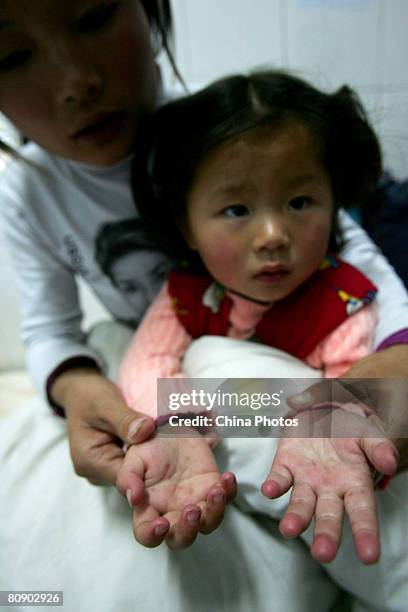
MULTIPOLYGON (((376 136, 351 90, 324 94, 272 71, 229 77, 161 108, 148 126, 145 146, 145 163, 137 159, 134 166, 136 201, 180 265, 150 306, 123 361, 119 384, 130 406, 157 416, 157 379, 182 377, 184 353, 203 335, 256 339, 325 376, 344 374, 373 350, 376 287, 335 255, 342 240, 340 205, 364 201, 381 169, 376 136)), ((310 477, 319 501, 316 506, 316 498, 309 500, 307 516, 295 503, 294 487, 282 530, 291 536, 303 531, 316 506, 312 550, 321 561, 336 555, 341 488, 351 494, 363 486, 367 523, 358 516, 361 507, 347 510, 360 558, 378 559, 364 453, 385 473, 396 465, 392 445, 383 438, 376 442, 383 445, 382 457, 373 457, 364 439, 328 442, 330 449, 320 454, 310 477), (333 461, 332 447, 342 449, 342 459, 333 461), (356 455, 362 460, 350 465, 356 455), (330 461, 337 474, 331 494, 339 504, 324 532, 319 477, 323 482, 330 461)), ((299 456, 303 452, 305 462, 320 441, 293 444, 286 462, 296 452, 298 463, 283 478, 278 450, 263 487, 267 496, 296 484, 303 467, 299 456)), ((137 504, 136 479, 135 487, 131 497, 137 504)))

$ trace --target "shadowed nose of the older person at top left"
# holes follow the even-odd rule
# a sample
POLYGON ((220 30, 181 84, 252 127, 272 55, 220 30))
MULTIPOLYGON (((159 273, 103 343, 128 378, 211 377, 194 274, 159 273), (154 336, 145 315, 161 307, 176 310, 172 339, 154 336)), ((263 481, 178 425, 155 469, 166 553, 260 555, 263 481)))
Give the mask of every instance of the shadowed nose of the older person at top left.
POLYGON ((103 78, 97 67, 87 61, 78 42, 76 46, 60 45, 55 51, 59 104, 85 104, 97 99, 103 90, 103 78))

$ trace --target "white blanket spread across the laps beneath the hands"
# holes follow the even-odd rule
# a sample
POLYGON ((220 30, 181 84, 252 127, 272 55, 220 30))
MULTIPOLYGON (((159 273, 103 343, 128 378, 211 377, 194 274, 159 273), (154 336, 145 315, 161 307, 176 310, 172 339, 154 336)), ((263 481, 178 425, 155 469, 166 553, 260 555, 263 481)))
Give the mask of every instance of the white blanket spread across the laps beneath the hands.
MULTIPOLYGON (((186 369, 196 377, 310 375, 292 358, 242 344, 202 339, 186 369)), ((327 611, 336 588, 301 541, 284 541, 265 518, 265 458, 249 442, 259 441, 217 450, 223 467, 251 471, 222 527, 184 551, 148 550, 133 539, 126 501, 74 474, 64 421, 41 400, 29 402, 0 421, 0 590, 62 589, 67 612, 327 611)))

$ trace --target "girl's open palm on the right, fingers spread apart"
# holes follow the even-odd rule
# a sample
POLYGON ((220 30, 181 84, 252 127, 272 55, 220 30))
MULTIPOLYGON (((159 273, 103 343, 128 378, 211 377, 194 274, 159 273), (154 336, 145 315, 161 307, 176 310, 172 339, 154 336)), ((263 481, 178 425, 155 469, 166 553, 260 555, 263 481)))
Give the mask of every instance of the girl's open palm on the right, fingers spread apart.
MULTIPOLYGON (((303 413, 301 418, 310 414, 303 413)), ((375 563, 380 544, 373 467, 383 474, 397 469, 393 445, 385 438, 282 438, 262 492, 276 498, 293 485, 280 531, 285 537, 296 537, 314 517, 311 553, 317 561, 328 563, 335 558, 345 510, 359 558, 375 563)))

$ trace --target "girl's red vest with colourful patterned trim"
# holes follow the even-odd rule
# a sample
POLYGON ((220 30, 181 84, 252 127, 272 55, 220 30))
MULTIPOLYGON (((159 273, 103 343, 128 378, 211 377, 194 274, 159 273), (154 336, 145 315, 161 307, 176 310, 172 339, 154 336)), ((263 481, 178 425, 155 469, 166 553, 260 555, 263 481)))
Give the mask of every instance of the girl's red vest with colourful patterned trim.
MULTIPOLYGON (((210 276, 188 272, 169 275, 176 315, 193 338, 227 335, 232 306, 228 295, 220 300, 216 313, 202 303, 212 282, 210 276)), ((364 274, 330 255, 306 283, 265 312, 255 336, 263 344, 305 359, 348 316, 371 303, 376 293, 364 274)))

